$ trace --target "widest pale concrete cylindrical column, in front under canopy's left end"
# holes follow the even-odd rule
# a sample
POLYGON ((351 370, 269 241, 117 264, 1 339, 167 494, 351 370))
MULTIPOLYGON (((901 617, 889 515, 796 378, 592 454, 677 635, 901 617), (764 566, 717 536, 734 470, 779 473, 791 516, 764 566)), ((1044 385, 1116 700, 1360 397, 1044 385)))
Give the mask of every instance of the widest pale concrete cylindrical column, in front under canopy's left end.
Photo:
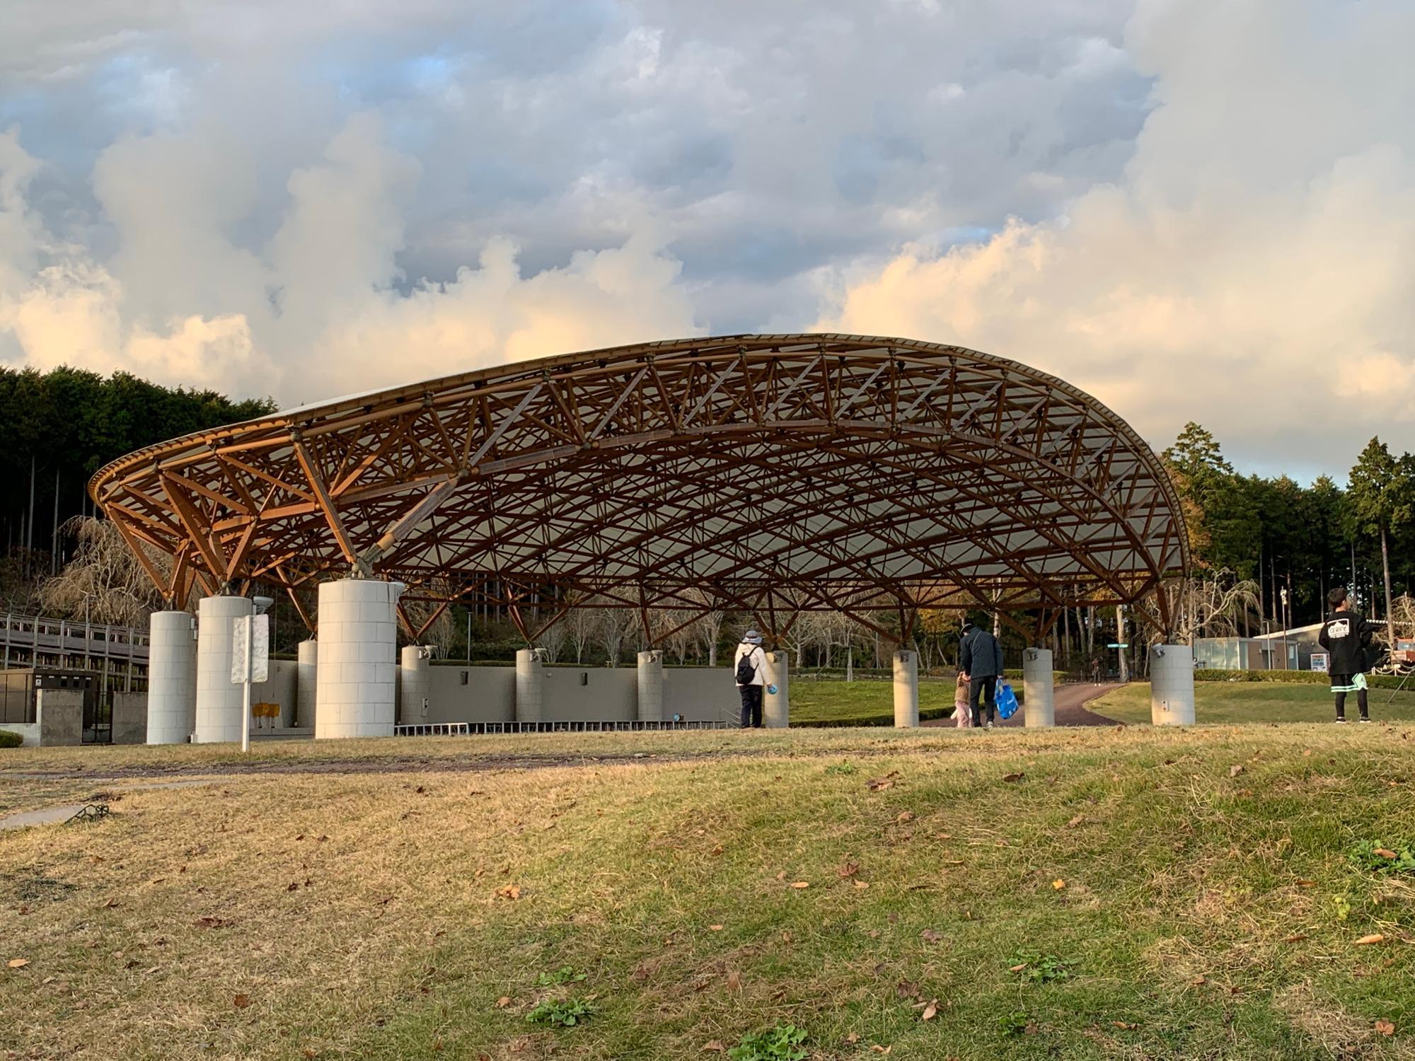
POLYGON ((392 737, 398 690, 399 583, 342 579, 320 586, 314 736, 392 737))

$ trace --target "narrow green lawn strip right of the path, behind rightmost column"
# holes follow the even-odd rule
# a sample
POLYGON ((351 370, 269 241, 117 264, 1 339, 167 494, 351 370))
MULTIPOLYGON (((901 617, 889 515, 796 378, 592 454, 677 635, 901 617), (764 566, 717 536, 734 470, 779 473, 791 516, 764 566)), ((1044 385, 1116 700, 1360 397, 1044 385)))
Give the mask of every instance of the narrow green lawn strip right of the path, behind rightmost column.
MULTIPOLYGON (((1411 682, 1415 686, 1415 680, 1411 682)), ((1377 721, 1415 721, 1415 689, 1395 693, 1373 689, 1371 717, 1377 721)), ((1150 720, 1150 688, 1133 682, 1115 689, 1087 707, 1097 714, 1124 723, 1150 720)), ((1360 714, 1356 697, 1347 696, 1347 719, 1356 724, 1360 714)), ((1279 685, 1275 682, 1196 682, 1194 719, 1199 724, 1323 721, 1336 717, 1332 693, 1317 685, 1279 685)))

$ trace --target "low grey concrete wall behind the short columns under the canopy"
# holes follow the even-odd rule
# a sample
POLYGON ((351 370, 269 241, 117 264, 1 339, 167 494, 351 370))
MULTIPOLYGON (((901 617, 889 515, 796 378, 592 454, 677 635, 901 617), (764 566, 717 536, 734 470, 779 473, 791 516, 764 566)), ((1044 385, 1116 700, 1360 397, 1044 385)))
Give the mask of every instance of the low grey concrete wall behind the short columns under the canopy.
MULTIPOLYGON (((514 666, 429 668, 427 717, 420 721, 515 720, 514 666), (463 675, 467 683, 463 685, 463 675)), ((638 717, 638 671, 633 666, 546 666, 546 721, 633 721, 638 717)), ((664 717, 733 721, 741 700, 726 666, 664 668, 664 717)))

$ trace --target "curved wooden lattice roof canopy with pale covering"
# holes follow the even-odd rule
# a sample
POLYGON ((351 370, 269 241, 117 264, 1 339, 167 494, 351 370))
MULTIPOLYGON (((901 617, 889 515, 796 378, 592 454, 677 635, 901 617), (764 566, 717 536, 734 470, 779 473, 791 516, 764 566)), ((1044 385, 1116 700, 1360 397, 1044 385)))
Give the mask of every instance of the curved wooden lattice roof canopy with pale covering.
POLYGON ((1095 399, 857 335, 499 365, 151 446, 89 489, 178 605, 253 580, 299 605, 355 570, 410 600, 594 594, 775 631, 964 598, 1051 621, 1131 603, 1166 630, 1187 560, 1169 477, 1095 399))

